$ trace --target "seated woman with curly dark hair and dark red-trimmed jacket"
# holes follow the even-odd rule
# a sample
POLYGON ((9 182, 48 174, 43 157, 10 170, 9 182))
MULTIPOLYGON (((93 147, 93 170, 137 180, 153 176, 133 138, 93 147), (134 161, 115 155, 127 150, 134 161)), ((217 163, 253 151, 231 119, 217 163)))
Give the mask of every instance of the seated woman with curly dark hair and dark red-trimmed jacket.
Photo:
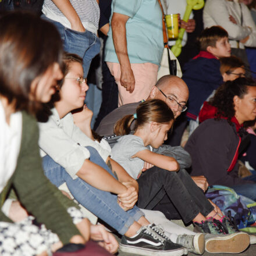
POLYGON ((237 159, 249 140, 243 123, 256 118, 256 83, 238 78, 227 81, 201 109, 200 126, 185 149, 192 158, 191 175, 204 175, 209 185, 232 187, 256 200, 256 176, 241 179, 237 159))

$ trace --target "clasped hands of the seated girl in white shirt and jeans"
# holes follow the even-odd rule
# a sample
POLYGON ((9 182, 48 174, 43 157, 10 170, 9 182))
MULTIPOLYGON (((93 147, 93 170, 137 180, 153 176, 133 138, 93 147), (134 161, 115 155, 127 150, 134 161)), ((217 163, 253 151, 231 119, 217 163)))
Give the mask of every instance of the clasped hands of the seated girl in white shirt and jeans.
POLYGON ((126 193, 118 195, 118 204, 125 211, 128 211, 136 204, 138 200, 138 192, 136 191, 135 187, 129 186, 128 184, 126 184, 126 182, 123 182, 122 184, 127 187, 127 191, 126 193))

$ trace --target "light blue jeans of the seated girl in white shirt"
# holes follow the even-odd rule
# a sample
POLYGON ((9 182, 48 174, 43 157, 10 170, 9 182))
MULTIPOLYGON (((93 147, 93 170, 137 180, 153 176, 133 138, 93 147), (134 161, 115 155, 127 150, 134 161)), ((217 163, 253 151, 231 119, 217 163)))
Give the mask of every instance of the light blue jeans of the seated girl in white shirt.
MULTIPOLYGON (((101 166, 115 177, 111 169, 108 168, 108 165, 106 165, 98 154, 98 151, 93 147, 86 148, 90 151, 90 161, 97 163, 97 165, 101 166)), ((84 182, 84 180, 79 177, 73 180, 66 170, 61 165, 54 162, 48 155, 42 158, 42 165, 45 176, 47 176, 56 187, 66 182, 67 187, 79 204, 108 223, 108 225, 116 229, 118 233, 125 234, 134 221, 138 221, 141 216, 144 216, 143 212, 136 206, 129 211, 124 211, 119 206, 115 194, 95 189, 95 187, 84 182)))

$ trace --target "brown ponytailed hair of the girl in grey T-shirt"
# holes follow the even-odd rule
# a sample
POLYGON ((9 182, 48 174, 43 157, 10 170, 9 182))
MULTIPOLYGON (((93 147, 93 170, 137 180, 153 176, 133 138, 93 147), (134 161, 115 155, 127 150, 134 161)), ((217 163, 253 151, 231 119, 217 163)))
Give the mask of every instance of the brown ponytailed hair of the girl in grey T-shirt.
POLYGON ((161 99, 149 99, 138 105, 134 115, 127 115, 116 122, 114 133, 126 135, 131 132, 131 123, 135 122, 134 130, 142 127, 145 123, 157 122, 168 123, 174 120, 172 109, 161 99))

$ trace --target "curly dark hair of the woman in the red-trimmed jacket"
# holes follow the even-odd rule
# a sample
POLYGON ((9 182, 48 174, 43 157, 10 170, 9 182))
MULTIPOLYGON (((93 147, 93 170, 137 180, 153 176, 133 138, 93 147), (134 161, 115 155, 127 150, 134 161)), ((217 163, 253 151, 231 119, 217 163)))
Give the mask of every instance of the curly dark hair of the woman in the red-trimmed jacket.
POLYGON ((250 86, 256 86, 256 82, 246 77, 239 77, 222 84, 209 101, 209 104, 218 109, 215 118, 219 119, 224 116, 231 123, 231 119, 235 114, 234 96, 237 95, 239 98, 243 98, 248 93, 248 87, 250 86))

